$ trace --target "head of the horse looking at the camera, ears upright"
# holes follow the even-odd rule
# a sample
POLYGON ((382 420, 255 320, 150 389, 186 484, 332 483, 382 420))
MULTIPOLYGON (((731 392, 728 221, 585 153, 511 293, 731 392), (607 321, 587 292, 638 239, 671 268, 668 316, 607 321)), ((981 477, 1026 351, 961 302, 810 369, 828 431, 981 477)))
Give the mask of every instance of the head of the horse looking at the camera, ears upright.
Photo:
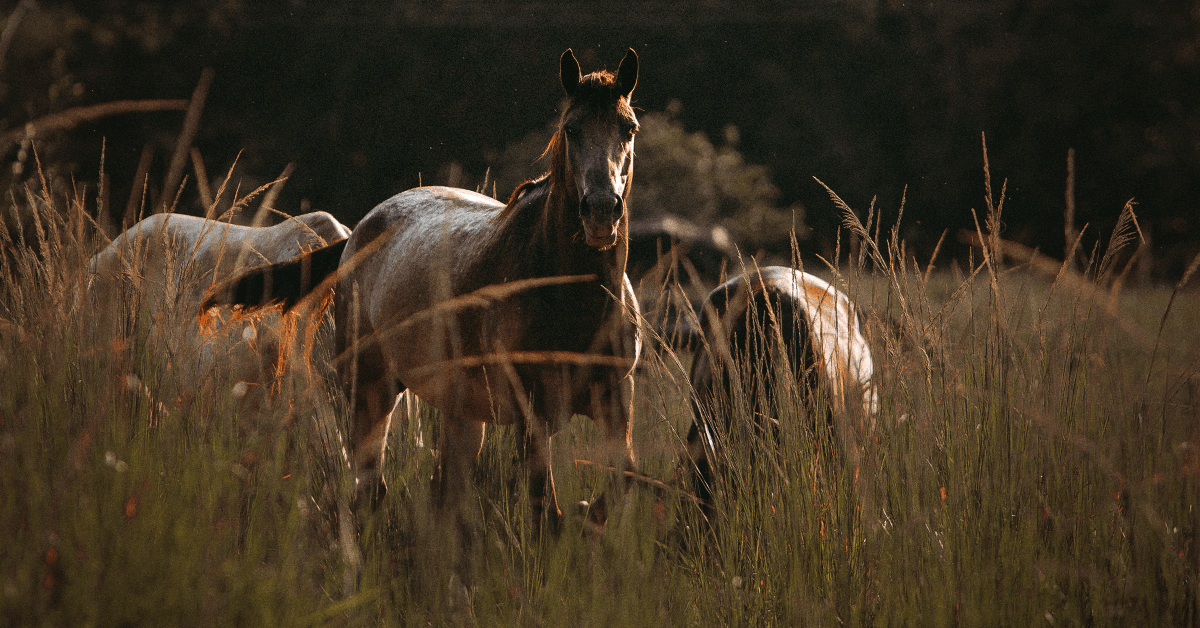
POLYGON ((559 59, 559 78, 569 98, 554 137, 564 198, 577 202, 588 246, 608 249, 620 237, 634 174, 638 126, 629 96, 637 85, 637 53, 625 53, 616 76, 583 76, 568 49, 559 59))

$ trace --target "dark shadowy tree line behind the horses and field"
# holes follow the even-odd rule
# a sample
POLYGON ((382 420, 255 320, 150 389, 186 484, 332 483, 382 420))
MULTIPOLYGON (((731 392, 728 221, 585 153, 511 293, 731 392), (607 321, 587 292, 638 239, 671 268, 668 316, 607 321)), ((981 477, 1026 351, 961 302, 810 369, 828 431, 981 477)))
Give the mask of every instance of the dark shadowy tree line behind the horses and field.
MULTIPOLYGON (((714 143, 736 127, 779 205, 805 208, 810 251, 830 252, 838 221, 817 177, 856 209, 877 196, 884 221, 904 196, 904 234, 928 256, 984 208, 982 133, 995 187, 1008 180, 1007 238, 1062 255, 1074 149, 1085 246, 1133 198, 1158 276, 1200 250, 1200 14, 1177 0, 38 0, 6 50, 0 131, 78 104, 187 97, 211 66, 197 138, 210 174, 239 151, 244 187, 295 162, 278 205, 353 222, 418 181, 479 185, 490 157, 553 118, 566 47, 586 70, 634 47, 642 109, 677 100, 674 118, 714 143)), ((38 156, 94 181, 107 138, 124 198, 143 145, 161 169, 179 120, 103 119, 38 137, 38 156)), ((28 166, 18 149, 5 160, 28 166)))

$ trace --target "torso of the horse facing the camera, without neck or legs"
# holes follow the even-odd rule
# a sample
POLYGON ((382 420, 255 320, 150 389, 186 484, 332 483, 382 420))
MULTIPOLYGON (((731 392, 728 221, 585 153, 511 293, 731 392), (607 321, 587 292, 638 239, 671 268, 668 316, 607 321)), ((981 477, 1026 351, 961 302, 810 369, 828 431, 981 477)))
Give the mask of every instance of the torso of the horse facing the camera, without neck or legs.
MULTIPOLYGON (((526 190, 516 202, 536 198, 536 190, 526 190)), ((622 313, 601 285, 601 270, 540 265, 528 229, 538 215, 445 187, 409 190, 384 202, 355 227, 343 255, 340 347, 385 334, 386 342, 370 351, 379 353, 390 377, 436 406, 458 405, 480 420, 511 420, 515 405, 488 401, 508 389, 496 387, 510 375, 539 405, 588 408, 590 387, 570 382, 611 379, 617 361, 611 358, 636 359, 636 330, 605 327, 622 313), (575 358, 551 358, 564 354, 575 358), (601 357, 588 363, 582 354, 601 357), (568 391, 576 388, 578 399, 568 391)), ((618 289, 636 312, 628 279, 618 289)), ((625 371, 631 369, 630 360, 625 371)))

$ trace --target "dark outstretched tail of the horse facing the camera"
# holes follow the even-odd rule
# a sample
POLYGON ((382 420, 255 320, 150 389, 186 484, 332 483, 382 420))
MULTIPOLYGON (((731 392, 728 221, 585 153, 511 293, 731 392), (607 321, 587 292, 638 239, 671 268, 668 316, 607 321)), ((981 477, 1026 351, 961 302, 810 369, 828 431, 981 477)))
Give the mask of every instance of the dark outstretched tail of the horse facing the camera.
POLYGON ((216 283, 204 294, 200 312, 218 305, 258 309, 275 304, 282 304, 283 311, 288 311, 337 271, 348 241, 338 240, 287 262, 259 267, 216 283))

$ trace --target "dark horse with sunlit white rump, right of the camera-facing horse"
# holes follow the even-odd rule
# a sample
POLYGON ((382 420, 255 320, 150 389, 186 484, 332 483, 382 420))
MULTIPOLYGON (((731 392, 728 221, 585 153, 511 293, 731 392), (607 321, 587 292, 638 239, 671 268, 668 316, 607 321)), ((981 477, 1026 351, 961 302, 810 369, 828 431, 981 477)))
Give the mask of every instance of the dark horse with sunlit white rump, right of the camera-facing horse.
POLYGON ((878 412, 871 349, 858 312, 846 294, 820 277, 785 267, 748 270, 708 295, 700 328, 703 342, 689 376, 694 421, 688 454, 698 476, 696 496, 709 515, 712 459, 718 454, 720 460, 720 435, 730 427, 714 430, 713 418, 732 419, 734 382, 740 381, 758 430, 785 414, 775 407, 778 377, 799 384, 809 417, 829 420, 832 412, 878 412))

